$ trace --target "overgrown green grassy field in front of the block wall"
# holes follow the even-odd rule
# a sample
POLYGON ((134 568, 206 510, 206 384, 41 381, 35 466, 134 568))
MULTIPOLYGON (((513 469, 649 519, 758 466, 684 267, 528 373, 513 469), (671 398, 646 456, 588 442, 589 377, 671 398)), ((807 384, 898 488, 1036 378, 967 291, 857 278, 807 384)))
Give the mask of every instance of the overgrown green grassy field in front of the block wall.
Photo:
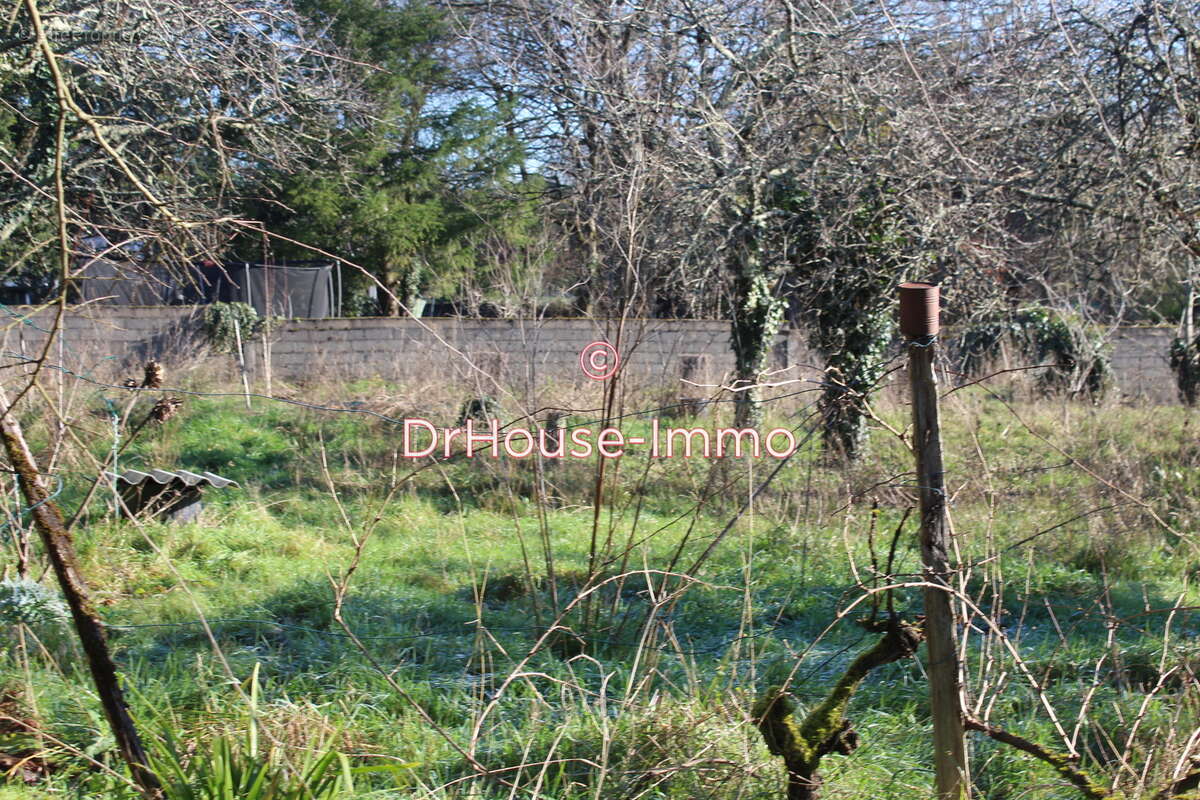
MULTIPOLYGON (((864 593, 919 575, 899 402, 880 402, 859 464, 804 438, 810 409, 776 404, 770 425, 805 445, 769 481, 770 458, 631 452, 606 464, 598 500, 595 459, 541 473, 402 459, 396 427, 355 413, 394 413, 388 387, 336 391, 344 411, 187 397, 120 468, 241 487, 181 525, 115 519, 101 492, 77 528, 137 722, 193 777, 228 745, 281 774, 337 751, 346 796, 782 798, 755 698, 787 684, 802 708, 818 702, 876 638, 857 622, 884 614, 884 595, 864 593), (557 616, 565 630, 547 633, 557 616)), ((1060 751, 1062 730, 1098 782, 1135 796, 1172 776, 1196 724, 1200 420, 1006 397, 943 399, 956 558, 979 612, 961 631, 970 702, 1060 751)), ((80 402, 96 414, 79 440, 102 458, 104 407, 80 402)), ((28 425, 44 450, 49 428, 28 425)), ((73 511, 89 462, 62 468, 73 511)), ((912 618, 919 590, 892 603, 912 618)), ((931 796, 923 660, 854 696, 859 746, 824 759, 824 796, 931 796)), ((36 753, 6 763, 0 798, 132 796, 67 624, 5 622, 0 668, 0 751, 36 753)), ((1024 753, 970 745, 980 796, 1080 796, 1024 753)))

